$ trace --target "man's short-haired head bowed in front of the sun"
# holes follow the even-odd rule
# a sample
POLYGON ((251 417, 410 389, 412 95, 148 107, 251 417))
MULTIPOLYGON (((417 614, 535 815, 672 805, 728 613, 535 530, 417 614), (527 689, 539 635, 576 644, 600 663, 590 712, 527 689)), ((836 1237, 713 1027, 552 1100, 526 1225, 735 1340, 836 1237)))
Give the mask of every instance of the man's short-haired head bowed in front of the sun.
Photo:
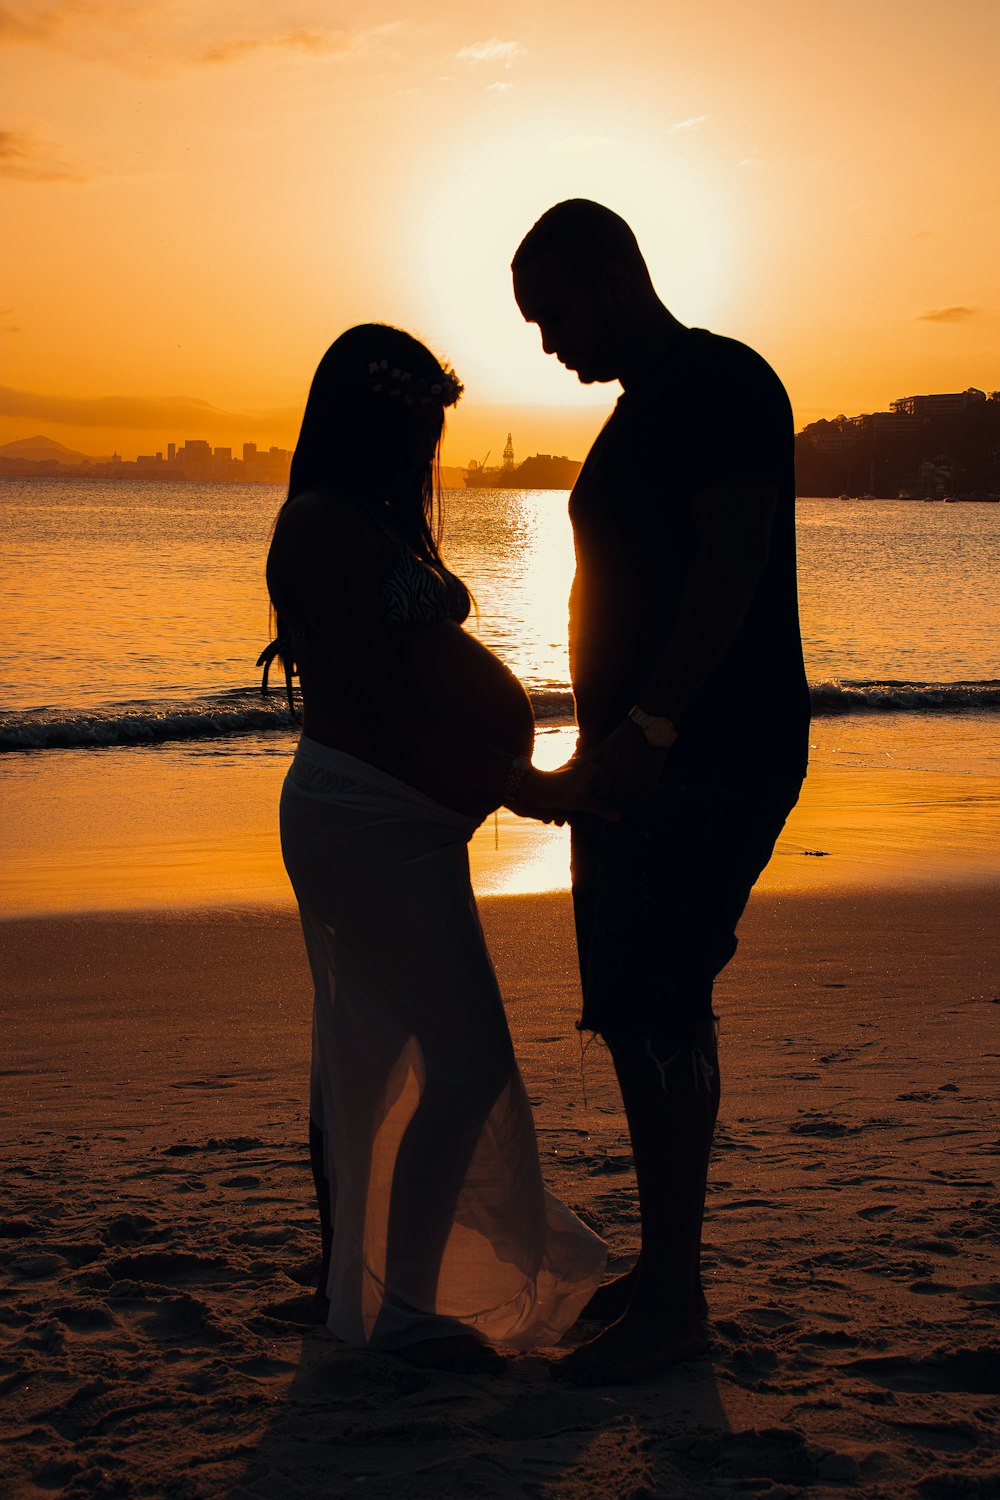
POLYGON ((514 297, 541 346, 580 381, 619 378, 636 334, 661 310, 636 236, 624 219, 589 198, 568 198, 543 213, 511 261, 514 297))

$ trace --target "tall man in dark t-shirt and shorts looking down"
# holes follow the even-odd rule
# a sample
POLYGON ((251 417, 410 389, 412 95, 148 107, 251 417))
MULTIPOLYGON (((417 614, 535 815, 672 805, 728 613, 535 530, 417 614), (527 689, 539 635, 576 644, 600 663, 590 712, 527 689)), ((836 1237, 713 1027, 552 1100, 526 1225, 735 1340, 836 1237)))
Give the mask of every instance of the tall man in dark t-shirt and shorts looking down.
POLYGON ((511 268, 546 354, 624 387, 570 500, 580 753, 622 813, 573 818, 580 1028, 615 1062, 642 1214, 636 1268, 585 1310, 610 1326, 558 1366, 598 1384, 708 1347, 712 984, 808 750, 793 426, 753 350, 664 308, 609 208, 556 204, 511 268))

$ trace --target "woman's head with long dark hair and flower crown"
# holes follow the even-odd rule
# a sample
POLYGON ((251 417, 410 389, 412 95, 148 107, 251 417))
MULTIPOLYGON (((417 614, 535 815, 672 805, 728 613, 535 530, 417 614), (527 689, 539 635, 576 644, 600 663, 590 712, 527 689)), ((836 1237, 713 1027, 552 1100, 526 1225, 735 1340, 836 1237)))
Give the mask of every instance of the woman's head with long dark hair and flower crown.
POLYGON ((423 508, 444 410, 460 394, 454 372, 402 328, 348 328, 313 376, 289 496, 318 489, 385 502, 394 514, 423 508))

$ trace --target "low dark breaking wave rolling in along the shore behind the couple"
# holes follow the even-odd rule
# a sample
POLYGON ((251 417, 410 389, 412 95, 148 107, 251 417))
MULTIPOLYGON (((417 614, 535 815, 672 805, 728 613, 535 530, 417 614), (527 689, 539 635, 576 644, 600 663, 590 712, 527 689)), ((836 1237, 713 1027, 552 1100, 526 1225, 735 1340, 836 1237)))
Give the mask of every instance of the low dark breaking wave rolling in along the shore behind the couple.
MULTIPOLYGON (((982 682, 817 682, 813 712, 834 714, 961 714, 1000 710, 1000 681, 982 682)), ((573 723, 573 694, 564 687, 531 693, 544 726, 573 723)), ((160 746, 261 734, 294 734, 297 723, 285 696, 261 698, 255 688, 205 694, 189 702, 130 702, 96 710, 25 710, 0 712, 0 752, 85 750, 111 746, 160 746)))

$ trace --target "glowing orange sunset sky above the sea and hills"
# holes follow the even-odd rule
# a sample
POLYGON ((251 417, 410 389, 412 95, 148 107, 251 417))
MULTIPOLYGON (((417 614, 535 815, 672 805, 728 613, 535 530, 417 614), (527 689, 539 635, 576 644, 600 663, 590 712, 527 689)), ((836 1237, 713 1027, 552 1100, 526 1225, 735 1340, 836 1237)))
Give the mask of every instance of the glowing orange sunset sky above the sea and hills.
POLYGON ((507 270, 573 195, 799 424, 1000 386, 997 0, 10 0, 0 44, 0 441, 291 447, 378 318, 465 380, 448 462, 582 456, 618 387, 507 270))

